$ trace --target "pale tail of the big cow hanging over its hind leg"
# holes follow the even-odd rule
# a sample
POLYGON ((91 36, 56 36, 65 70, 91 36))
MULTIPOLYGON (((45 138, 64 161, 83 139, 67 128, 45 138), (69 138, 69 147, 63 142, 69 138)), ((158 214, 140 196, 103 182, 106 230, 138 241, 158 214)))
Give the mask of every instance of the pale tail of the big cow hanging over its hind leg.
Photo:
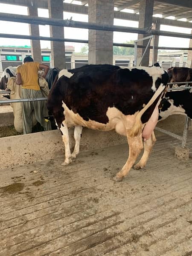
POLYGON ((152 98, 150 99, 150 101, 145 105, 145 107, 137 114, 136 118, 135 118, 135 123, 134 123, 134 127, 129 131, 129 136, 130 137, 134 137, 137 136, 137 134, 142 133, 142 128, 143 128, 143 123, 141 122, 141 116, 143 115, 143 113, 145 113, 145 111, 154 103, 154 101, 157 99, 158 96, 160 96, 160 94, 163 92, 163 90, 165 89, 165 85, 164 84, 160 84, 160 86, 158 87, 158 89, 156 90, 156 92, 154 93, 154 95, 152 96, 152 98))

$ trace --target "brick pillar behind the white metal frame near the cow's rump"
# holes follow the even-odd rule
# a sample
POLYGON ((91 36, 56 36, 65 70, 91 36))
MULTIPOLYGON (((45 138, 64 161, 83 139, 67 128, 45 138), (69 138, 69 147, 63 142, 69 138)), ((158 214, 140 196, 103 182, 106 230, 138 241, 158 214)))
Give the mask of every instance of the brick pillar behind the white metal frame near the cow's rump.
MULTIPOLYGON (((139 28, 148 28, 150 29, 152 26, 152 15, 153 15, 153 5, 154 0, 141 0, 140 1, 140 15, 139 15, 139 28)), ((138 39, 147 37, 148 35, 138 35, 138 39)), ((143 45, 146 47, 148 40, 144 40, 139 42, 138 45, 143 45)), ((137 50, 137 66, 140 63, 141 57, 143 55, 145 49, 138 49, 137 50)), ((141 63, 142 66, 148 66, 149 63, 149 49, 145 52, 143 57, 143 61, 141 63)))

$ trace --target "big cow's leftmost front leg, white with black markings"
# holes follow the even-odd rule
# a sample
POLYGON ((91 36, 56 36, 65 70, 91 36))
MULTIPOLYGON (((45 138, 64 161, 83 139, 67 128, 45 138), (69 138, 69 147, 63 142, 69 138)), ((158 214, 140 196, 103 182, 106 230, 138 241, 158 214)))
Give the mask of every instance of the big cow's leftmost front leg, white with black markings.
POLYGON ((71 151, 70 151, 70 144, 69 144, 69 131, 68 131, 66 122, 63 121, 61 123, 60 130, 61 130, 61 133, 62 133, 62 140, 63 140, 64 145, 65 145, 65 160, 61 164, 62 165, 68 165, 69 163, 72 162, 72 159, 71 159, 71 151))

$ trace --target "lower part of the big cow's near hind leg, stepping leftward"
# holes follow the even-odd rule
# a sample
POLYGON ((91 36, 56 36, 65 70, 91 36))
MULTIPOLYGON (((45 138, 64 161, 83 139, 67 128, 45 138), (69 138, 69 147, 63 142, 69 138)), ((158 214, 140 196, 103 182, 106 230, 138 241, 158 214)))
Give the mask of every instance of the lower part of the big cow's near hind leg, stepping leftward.
POLYGON ((141 134, 136 137, 127 136, 127 140, 129 145, 129 157, 121 171, 118 172, 115 177, 113 177, 114 181, 122 181, 123 177, 128 175, 128 172, 134 165, 138 155, 140 154, 140 151, 143 149, 143 141, 141 134))

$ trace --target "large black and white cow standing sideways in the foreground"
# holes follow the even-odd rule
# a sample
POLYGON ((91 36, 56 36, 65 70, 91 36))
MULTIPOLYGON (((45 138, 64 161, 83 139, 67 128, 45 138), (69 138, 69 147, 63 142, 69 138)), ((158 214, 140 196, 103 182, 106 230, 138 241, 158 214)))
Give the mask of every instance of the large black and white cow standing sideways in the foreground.
POLYGON ((164 94, 168 74, 160 67, 121 69, 107 64, 68 71, 73 73, 68 73, 70 78, 60 71, 47 102, 65 145, 63 164, 71 163, 79 153, 82 126, 101 131, 115 129, 127 136, 129 145, 128 160, 113 178, 120 181, 143 148, 142 130, 164 94), (72 126, 76 140, 73 154, 68 134, 72 126))

